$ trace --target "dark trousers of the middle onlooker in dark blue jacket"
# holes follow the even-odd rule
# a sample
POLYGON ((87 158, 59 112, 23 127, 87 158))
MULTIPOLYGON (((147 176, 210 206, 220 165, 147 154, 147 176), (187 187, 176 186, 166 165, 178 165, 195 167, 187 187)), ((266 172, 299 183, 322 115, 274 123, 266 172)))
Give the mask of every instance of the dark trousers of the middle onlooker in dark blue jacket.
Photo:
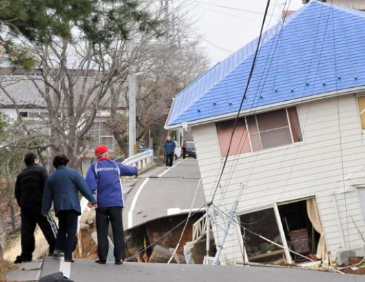
POLYGON ((67 209, 57 213, 58 234, 54 248, 65 252, 65 259, 72 259, 77 244, 78 212, 67 209))

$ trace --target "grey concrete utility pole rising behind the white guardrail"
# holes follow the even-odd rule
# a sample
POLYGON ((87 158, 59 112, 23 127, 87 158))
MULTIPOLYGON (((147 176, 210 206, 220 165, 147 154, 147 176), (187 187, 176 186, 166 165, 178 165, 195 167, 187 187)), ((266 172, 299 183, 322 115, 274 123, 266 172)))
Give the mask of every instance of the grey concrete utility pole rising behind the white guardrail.
MULTIPOLYGON (((131 39, 131 56, 133 54, 133 49, 135 48, 135 39, 131 39)), ((135 143, 136 139, 136 128, 135 128, 135 65, 131 66, 129 70, 128 76, 128 86, 129 86, 129 143, 128 143, 128 156, 133 156, 133 154, 137 154, 137 144, 135 143)))

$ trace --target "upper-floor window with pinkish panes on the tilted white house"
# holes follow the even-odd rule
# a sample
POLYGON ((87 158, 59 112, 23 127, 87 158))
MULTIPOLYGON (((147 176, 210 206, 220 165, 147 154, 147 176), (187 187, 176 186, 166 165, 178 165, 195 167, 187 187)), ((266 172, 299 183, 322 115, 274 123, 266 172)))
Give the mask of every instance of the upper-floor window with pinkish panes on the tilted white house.
MULTIPOLYGON (((233 125, 234 120, 216 124, 222 156, 227 155, 233 125)), ((239 119, 229 155, 256 152, 300 141, 302 132, 296 108, 274 110, 239 119)))

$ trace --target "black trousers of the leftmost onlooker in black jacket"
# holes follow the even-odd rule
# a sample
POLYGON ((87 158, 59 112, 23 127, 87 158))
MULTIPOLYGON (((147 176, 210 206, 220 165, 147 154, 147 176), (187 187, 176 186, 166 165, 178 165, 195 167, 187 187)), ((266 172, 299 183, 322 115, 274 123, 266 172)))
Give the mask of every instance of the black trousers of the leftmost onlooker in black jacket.
POLYGON ((34 231, 36 224, 49 244, 49 252, 54 251, 56 242, 57 226, 51 217, 45 217, 41 211, 34 209, 21 209, 21 259, 31 261, 35 249, 34 231))

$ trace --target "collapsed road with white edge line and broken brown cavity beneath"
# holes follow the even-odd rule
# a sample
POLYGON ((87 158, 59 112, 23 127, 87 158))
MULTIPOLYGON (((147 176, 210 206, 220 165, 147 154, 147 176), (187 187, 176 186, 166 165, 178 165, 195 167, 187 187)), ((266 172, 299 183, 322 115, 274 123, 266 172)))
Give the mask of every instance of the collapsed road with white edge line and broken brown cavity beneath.
MULTIPOLYGON (((173 262, 185 263, 184 246, 192 241, 192 225, 203 215, 206 205, 197 161, 192 158, 179 160, 173 167, 155 167, 138 178, 129 179, 124 185, 124 199, 124 259, 165 263, 178 245, 173 262), (181 222, 184 223, 190 209, 193 214, 184 226, 181 222), (176 227, 177 224, 180 225, 176 227)), ((96 259, 93 210, 82 215, 80 226, 74 255, 96 259)), ((213 236, 210 244, 214 245, 213 236)), ((112 249, 109 248, 108 260, 113 260, 112 249)), ((212 246, 212 255, 214 251, 215 246, 212 246)), ((191 252, 195 263, 202 263, 206 254, 205 238, 196 242, 191 252)))

